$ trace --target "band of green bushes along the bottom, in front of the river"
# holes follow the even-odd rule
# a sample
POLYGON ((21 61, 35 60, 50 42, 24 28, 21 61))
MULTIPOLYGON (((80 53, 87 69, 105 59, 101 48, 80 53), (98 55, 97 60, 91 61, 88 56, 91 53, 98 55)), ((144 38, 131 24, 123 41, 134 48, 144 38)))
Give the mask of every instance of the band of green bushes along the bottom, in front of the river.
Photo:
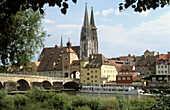
POLYGON ((15 95, 0 91, 0 110, 169 110, 169 99, 163 93, 139 100, 126 99, 118 94, 116 98, 68 96, 34 88, 15 95))

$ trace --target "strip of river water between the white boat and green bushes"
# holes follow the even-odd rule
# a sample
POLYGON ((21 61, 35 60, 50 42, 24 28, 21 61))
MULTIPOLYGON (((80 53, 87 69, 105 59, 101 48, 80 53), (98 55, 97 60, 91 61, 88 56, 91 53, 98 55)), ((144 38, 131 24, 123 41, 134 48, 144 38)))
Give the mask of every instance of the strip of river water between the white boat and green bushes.
MULTIPOLYGON (((94 93, 80 93, 79 91, 62 91, 62 94, 67 94, 69 96, 76 96, 76 95, 82 95, 82 96, 89 96, 89 97, 104 97, 104 98, 116 98, 118 94, 94 94, 94 93)), ((119 94, 122 95, 122 94, 119 94)), ((154 96, 151 95, 123 95, 126 99, 140 99, 143 100, 145 98, 154 98, 154 96)))

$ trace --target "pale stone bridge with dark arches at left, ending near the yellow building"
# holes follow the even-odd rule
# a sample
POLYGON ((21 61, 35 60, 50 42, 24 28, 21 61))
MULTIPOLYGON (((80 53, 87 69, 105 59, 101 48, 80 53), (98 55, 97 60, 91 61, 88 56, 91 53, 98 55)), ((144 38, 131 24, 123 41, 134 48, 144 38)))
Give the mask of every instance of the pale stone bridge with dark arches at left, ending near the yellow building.
POLYGON ((79 87, 79 80, 37 75, 0 74, 0 89, 6 91, 27 91, 30 88, 61 89, 79 87))

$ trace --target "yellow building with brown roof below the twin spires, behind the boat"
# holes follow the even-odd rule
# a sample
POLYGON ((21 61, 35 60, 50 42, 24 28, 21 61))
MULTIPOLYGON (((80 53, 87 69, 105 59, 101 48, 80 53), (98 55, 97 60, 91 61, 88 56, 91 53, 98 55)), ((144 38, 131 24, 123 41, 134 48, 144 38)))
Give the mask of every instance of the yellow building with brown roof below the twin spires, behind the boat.
POLYGON ((94 54, 80 62, 80 83, 101 84, 116 80, 114 64, 102 54, 94 54))

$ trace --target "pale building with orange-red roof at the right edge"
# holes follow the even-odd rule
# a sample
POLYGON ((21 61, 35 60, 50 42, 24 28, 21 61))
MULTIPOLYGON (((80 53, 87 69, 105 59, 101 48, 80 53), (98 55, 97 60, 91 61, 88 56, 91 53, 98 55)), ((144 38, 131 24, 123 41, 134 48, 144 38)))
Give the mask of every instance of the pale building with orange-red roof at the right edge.
POLYGON ((168 54, 159 55, 159 58, 157 58, 156 74, 170 74, 170 52, 168 52, 168 54))

